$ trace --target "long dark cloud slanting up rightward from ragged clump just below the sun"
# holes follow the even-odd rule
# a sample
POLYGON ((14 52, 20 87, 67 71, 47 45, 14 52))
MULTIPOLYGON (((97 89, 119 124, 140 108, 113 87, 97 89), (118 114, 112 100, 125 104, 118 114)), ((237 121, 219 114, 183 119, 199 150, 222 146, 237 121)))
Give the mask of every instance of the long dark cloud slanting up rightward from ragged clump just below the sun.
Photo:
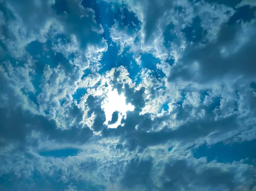
MULTIPOLYGON (((121 136, 122 139, 128 140, 126 147, 133 151, 137 147, 144 150, 149 145, 163 144, 168 140, 179 141, 183 143, 193 142, 199 138, 208 136, 217 137, 223 133, 237 130, 239 122, 237 115, 233 114, 226 118, 214 119, 214 116, 209 118, 197 119, 186 122, 175 129, 170 129, 167 126, 160 131, 149 131, 154 126, 157 127, 165 118, 150 119, 148 114, 139 115, 139 113, 127 112, 126 119, 122 119, 123 126, 119 125, 116 129, 104 129, 103 136, 121 136), (136 127, 136 128, 135 128, 136 127)), ((166 117, 167 119, 169 116, 166 117)))

